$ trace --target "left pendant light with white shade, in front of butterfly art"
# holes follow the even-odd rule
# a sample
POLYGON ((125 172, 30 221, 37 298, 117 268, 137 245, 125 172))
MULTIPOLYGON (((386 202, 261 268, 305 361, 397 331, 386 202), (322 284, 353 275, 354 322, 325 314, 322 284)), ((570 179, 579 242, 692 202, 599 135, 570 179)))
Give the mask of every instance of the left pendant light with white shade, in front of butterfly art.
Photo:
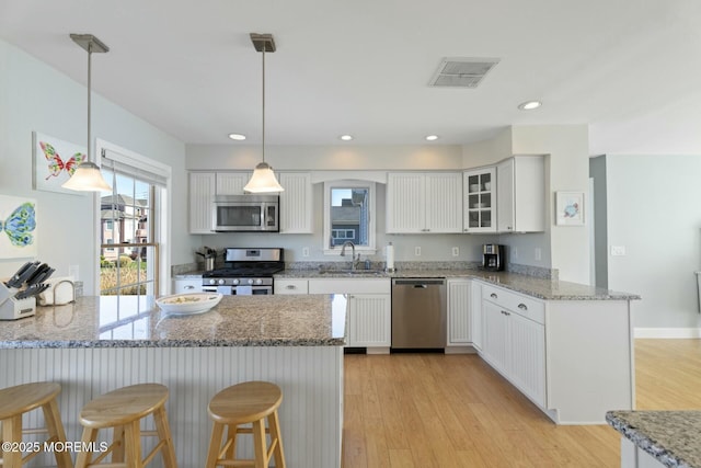
POLYGON ((91 96, 91 58, 92 53, 106 53, 110 47, 104 45, 97 37, 92 34, 71 34, 70 38, 76 44, 88 50, 88 153, 85 160, 81 161, 76 168, 76 172, 61 186, 64 189, 74 190, 78 192, 102 192, 112 191, 112 187, 105 182, 100 172, 100 167, 90 161, 90 147, 92 144, 90 135, 90 96, 91 96))

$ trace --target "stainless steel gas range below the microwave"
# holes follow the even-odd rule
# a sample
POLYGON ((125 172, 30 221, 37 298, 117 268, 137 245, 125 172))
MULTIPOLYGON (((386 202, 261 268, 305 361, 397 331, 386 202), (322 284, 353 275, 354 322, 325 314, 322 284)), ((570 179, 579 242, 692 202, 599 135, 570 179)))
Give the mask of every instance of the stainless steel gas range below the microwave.
POLYGON ((227 295, 273 294, 273 275, 285 270, 284 249, 225 250, 225 267, 202 275, 202 290, 227 295))

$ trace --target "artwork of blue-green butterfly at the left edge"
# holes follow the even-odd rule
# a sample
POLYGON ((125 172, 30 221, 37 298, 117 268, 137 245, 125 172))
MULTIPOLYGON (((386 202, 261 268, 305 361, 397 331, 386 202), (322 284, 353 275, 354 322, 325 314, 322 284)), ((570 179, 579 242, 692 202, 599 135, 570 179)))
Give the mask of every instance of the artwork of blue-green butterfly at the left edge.
POLYGON ((0 259, 36 256, 36 201, 0 195, 0 259))

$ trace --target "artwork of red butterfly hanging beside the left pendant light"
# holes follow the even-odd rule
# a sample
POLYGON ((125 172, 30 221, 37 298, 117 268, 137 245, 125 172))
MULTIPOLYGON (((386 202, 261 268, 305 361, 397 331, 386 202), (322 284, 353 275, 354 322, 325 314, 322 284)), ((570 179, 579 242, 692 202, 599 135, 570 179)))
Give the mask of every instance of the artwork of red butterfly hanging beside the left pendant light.
POLYGON ((82 195, 61 185, 85 159, 85 147, 64 141, 38 132, 32 132, 34 147, 34 189, 82 195))

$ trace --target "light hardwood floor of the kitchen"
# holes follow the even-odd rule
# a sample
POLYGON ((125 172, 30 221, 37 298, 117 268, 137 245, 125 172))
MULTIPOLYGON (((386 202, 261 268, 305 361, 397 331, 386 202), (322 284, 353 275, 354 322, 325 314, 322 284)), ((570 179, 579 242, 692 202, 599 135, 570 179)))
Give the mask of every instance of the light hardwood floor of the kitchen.
MULTIPOLYGON (((700 369, 701 340, 636 340, 636 409, 701 408, 700 369)), ((348 354, 344 419, 344 468, 620 466, 610 426, 553 424, 476 355, 348 354)))

